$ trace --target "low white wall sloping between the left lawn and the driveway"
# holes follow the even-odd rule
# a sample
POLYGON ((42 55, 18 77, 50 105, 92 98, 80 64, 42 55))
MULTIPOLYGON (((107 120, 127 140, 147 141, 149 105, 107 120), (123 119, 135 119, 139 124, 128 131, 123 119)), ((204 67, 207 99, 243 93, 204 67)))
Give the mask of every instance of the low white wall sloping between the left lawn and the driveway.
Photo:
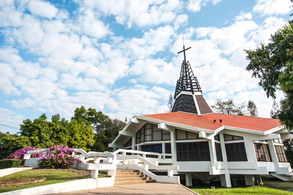
POLYGON ((105 177, 98 179, 80 179, 75 181, 67 181, 63 183, 56 183, 34 188, 27 188, 23 190, 4 192, 1 193, 1 195, 48 195, 55 193, 111 187, 114 185, 114 179, 115 177, 105 177))

